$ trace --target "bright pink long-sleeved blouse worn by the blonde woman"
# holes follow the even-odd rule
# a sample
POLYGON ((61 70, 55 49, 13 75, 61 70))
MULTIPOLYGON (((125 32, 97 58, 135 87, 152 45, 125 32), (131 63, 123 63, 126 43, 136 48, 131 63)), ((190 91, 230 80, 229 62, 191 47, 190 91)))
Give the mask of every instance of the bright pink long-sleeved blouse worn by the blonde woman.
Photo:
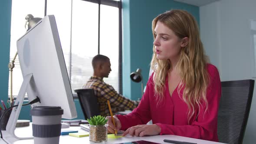
MULTIPOLYGON (((197 108, 195 114, 188 121, 188 106, 179 97, 177 88, 172 96, 168 89, 168 79, 166 77, 164 91, 164 100, 158 103, 154 96, 153 74, 148 80, 146 92, 141 98, 141 102, 128 115, 117 115, 121 121, 121 130, 126 130, 138 124, 147 124, 152 120, 161 128, 162 134, 174 134, 184 137, 198 138, 208 141, 218 141, 217 136, 217 113, 221 96, 220 75, 214 65, 207 64, 207 71, 210 77, 210 83, 207 88, 207 111, 206 105, 197 108), (198 117, 196 118, 198 114, 198 117)), ((182 96, 184 88, 181 88, 182 96)))

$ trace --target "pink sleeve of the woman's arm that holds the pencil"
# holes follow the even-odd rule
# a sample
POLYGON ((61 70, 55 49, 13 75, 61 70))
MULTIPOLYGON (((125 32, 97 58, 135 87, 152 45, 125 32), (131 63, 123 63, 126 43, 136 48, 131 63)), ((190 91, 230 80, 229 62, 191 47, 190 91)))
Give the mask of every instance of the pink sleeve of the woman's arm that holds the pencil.
POLYGON ((121 121, 121 130, 127 130, 132 126, 139 124, 147 124, 148 121, 151 120, 149 95, 151 93, 151 87, 153 82, 152 75, 148 80, 146 91, 143 97, 141 98, 141 102, 139 103, 138 107, 135 108, 128 115, 116 115, 118 119, 121 121))

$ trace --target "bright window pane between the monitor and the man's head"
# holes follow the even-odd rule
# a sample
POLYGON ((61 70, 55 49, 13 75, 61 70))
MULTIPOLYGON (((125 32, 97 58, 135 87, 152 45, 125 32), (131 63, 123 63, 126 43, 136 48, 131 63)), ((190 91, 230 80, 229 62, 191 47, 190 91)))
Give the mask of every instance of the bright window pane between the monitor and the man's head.
POLYGON ((98 3, 73 0, 71 50, 71 85, 78 89, 92 76, 98 54, 98 3))

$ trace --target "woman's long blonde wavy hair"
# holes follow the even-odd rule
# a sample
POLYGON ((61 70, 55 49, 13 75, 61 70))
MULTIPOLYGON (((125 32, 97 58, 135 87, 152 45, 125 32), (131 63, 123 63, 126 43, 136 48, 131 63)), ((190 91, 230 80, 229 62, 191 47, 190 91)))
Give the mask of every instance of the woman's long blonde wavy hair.
MULTIPOLYGON (((182 98, 188 105, 187 115, 189 122, 190 118, 197 113, 196 110, 198 110, 198 116, 200 105, 203 102, 208 107, 206 92, 209 76, 206 64, 209 62, 209 59, 204 54, 196 20, 190 13, 185 10, 170 10, 158 15, 152 22, 154 39, 156 38, 154 29, 158 21, 170 28, 179 39, 188 37, 188 44, 181 48, 180 59, 174 69, 177 69, 177 72, 181 76, 178 93, 184 87, 182 98)), ((155 96, 158 98, 158 103, 164 99, 165 78, 171 66, 169 59, 157 59, 155 46, 153 46, 151 69, 154 70, 154 90, 155 96)))

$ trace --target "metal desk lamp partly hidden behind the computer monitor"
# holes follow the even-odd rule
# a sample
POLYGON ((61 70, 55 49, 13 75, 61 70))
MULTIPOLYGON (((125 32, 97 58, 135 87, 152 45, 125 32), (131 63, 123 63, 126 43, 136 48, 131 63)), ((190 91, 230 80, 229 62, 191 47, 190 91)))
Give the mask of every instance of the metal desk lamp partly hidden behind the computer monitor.
MULTIPOLYGON (((32 14, 28 14, 26 17, 26 23, 25 23, 25 28, 27 29, 27 31, 33 27, 36 23, 38 23, 42 18, 39 17, 34 17, 32 14)), ((10 103, 13 103, 13 68, 14 68, 14 61, 16 59, 16 56, 18 55, 18 53, 15 53, 15 56, 13 58, 13 60, 8 64, 8 68, 10 71, 10 103)))

